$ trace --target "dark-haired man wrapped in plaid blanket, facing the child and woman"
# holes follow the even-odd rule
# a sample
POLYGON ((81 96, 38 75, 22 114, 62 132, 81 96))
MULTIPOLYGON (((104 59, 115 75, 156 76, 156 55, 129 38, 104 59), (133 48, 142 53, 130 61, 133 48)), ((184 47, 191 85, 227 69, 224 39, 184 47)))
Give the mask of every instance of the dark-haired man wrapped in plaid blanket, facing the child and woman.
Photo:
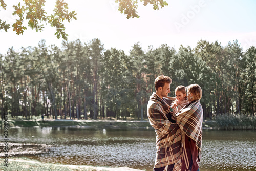
POLYGON ((147 104, 147 116, 157 134, 155 171, 163 171, 165 166, 168 166, 168 171, 181 170, 181 130, 176 123, 168 120, 172 101, 167 96, 171 83, 170 77, 158 76, 155 79, 156 92, 147 104))

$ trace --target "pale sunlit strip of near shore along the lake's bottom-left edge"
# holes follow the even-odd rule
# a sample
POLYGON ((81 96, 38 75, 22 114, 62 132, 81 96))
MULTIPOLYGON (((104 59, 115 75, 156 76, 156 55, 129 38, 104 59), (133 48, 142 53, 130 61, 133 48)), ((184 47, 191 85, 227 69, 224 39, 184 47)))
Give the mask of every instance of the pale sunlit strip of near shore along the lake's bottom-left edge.
MULTIPOLYGON (((31 163, 31 164, 40 164, 40 165, 48 165, 48 163, 41 163, 39 161, 32 161, 32 160, 22 160, 22 159, 9 159, 9 162, 15 161, 15 162, 24 162, 24 163, 31 163)), ((50 164, 50 163, 49 163, 50 164)), ((63 167, 69 167, 71 169, 94 169, 94 170, 108 170, 108 171, 142 171, 138 169, 133 169, 129 167, 118 167, 118 168, 110 168, 110 167, 94 167, 94 166, 84 166, 84 165, 66 165, 66 164, 52 164, 56 166, 63 166, 63 167)), ((26 166, 25 166, 26 167, 26 166)))

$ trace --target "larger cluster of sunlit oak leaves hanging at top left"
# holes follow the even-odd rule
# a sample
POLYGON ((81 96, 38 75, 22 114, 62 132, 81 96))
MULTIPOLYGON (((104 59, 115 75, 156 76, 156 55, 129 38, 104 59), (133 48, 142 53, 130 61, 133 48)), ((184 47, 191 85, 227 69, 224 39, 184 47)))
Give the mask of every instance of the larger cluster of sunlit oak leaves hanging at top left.
MULTIPOLYGON (((4 0, 0 2, 2 8, 6 10, 7 5, 4 3, 4 0)), ((12 24, 13 31, 18 35, 23 34, 24 30, 27 29, 27 27, 24 26, 25 20, 28 20, 28 26, 36 31, 42 31, 44 25, 48 22, 52 27, 56 28, 55 35, 57 38, 62 37, 64 40, 67 40, 68 35, 65 33, 63 22, 65 20, 68 22, 72 19, 76 20, 75 11, 69 12, 68 4, 65 3, 64 0, 56 0, 56 5, 53 10, 54 13, 47 15, 44 10, 45 3, 45 0, 23 0, 23 3, 19 2, 18 5, 14 5, 13 15, 17 15, 19 19, 16 19, 16 22, 12 24)), ((9 28, 10 24, 0 19, 0 30, 4 29, 7 31, 9 28)))

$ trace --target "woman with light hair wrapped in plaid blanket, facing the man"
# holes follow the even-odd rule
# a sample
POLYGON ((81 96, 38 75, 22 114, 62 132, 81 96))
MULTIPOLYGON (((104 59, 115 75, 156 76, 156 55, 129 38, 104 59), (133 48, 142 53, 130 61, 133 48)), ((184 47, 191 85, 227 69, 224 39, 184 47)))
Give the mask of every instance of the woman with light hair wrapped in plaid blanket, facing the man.
POLYGON ((173 119, 182 130, 182 168, 181 170, 199 170, 202 148, 203 109, 200 104, 202 89, 198 84, 187 87, 187 98, 190 102, 173 115, 173 119))

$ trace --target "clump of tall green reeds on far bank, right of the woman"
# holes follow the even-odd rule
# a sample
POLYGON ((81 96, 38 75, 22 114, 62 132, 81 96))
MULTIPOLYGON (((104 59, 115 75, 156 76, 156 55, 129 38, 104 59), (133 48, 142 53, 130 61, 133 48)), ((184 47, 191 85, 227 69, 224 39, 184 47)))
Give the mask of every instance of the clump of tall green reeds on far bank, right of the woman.
POLYGON ((223 130, 256 130, 256 117, 224 114, 216 117, 217 127, 223 130))

